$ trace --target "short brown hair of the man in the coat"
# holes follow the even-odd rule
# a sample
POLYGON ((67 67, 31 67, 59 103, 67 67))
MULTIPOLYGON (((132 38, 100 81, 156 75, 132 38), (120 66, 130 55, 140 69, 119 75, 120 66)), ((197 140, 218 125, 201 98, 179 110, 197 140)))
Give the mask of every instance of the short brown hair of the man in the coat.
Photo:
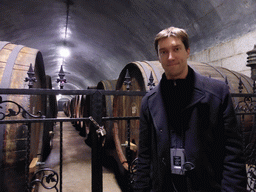
POLYGON ((189 48, 189 37, 188 37, 187 32, 184 29, 181 29, 181 28, 169 27, 169 28, 166 28, 166 29, 160 31, 155 37, 154 44, 155 44, 155 50, 156 50, 157 54, 158 54, 158 42, 159 42, 159 40, 161 40, 163 38, 171 37, 171 36, 179 38, 182 41, 182 43, 184 44, 185 49, 188 50, 188 48, 189 48))

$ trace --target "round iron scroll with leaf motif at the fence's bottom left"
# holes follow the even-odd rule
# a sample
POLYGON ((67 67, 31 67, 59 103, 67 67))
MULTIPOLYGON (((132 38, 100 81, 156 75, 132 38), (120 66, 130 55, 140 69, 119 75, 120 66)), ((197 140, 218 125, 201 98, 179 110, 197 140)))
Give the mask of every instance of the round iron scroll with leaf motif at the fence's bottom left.
POLYGON ((57 184, 59 182, 59 176, 57 172, 50 168, 44 168, 37 171, 32 179, 31 187, 35 188, 35 185, 40 183, 45 189, 55 189, 58 192, 57 184), (41 178, 41 179, 38 179, 41 178))

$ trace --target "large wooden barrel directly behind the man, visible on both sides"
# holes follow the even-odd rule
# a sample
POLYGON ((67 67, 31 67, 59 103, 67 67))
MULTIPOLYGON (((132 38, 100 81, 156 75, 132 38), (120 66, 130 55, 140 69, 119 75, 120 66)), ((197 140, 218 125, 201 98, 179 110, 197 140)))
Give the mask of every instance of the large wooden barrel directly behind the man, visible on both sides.
MULTIPOLYGON (((243 84, 242 93, 252 93, 253 81, 249 77, 240 73, 222 68, 214 67, 206 63, 188 62, 188 64, 201 75, 219 79, 221 81, 227 81, 231 93, 239 93, 239 79, 241 78, 243 84)), ((154 78, 154 83, 157 85, 160 82, 164 70, 158 61, 137 61, 127 64, 121 71, 117 80, 116 90, 126 90, 124 85, 126 71, 129 71, 131 77, 132 86, 131 91, 148 91, 150 73, 154 78)), ((114 96, 113 99, 113 116, 125 117, 125 116, 139 116, 141 107, 142 96, 114 96)), ((233 98, 234 106, 238 104, 243 98, 233 98)), ((252 129, 252 116, 244 116, 244 119, 238 119, 241 127, 244 130, 252 129)), ((130 142, 132 150, 132 159, 137 157, 138 145, 139 145, 139 120, 131 120, 130 122, 130 142)), ((116 147, 116 152, 120 163, 123 168, 128 170, 127 163, 127 122, 115 121, 113 126, 113 137, 116 147)), ((245 141, 247 138, 245 138, 245 141)), ((247 144, 245 143, 245 146, 247 144)))

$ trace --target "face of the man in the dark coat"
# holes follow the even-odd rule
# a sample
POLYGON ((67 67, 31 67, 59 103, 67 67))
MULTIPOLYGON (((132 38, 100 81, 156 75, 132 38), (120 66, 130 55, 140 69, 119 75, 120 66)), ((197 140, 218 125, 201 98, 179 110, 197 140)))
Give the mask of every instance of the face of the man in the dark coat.
POLYGON ((177 37, 167 37, 158 42, 158 57, 167 79, 185 79, 188 74, 187 59, 190 49, 185 49, 177 37))

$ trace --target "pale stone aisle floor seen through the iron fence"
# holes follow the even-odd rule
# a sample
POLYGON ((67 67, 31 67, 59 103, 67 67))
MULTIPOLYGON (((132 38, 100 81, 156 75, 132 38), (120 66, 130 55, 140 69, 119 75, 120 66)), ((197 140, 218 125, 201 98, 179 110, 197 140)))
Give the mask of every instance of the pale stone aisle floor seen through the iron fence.
MULTIPOLYGON (((65 117, 59 112, 58 117, 65 117)), ((45 167, 59 172, 59 124, 55 128, 53 149, 45 167)), ((111 163, 110 163, 111 164, 111 163)), ((103 191, 121 191, 112 168, 103 167, 103 191)), ((63 192, 89 192, 91 190, 91 148, 70 122, 63 123, 63 192)), ((58 191, 59 190, 58 185, 58 191)), ((39 192, 56 191, 39 187, 39 192)))

